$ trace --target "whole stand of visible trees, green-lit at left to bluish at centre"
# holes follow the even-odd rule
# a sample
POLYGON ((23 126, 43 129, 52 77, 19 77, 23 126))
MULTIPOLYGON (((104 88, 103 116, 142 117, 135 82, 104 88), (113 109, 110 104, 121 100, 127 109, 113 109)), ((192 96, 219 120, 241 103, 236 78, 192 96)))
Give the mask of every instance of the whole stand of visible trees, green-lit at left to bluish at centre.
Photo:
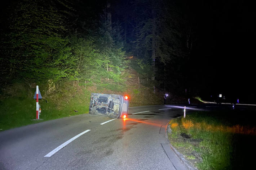
POLYGON ((133 55, 142 83, 169 86, 165 75, 179 77, 176 61, 185 56, 172 6, 165 0, 13 1, 1 19, 1 82, 50 79, 111 89, 123 84, 125 55, 133 55))

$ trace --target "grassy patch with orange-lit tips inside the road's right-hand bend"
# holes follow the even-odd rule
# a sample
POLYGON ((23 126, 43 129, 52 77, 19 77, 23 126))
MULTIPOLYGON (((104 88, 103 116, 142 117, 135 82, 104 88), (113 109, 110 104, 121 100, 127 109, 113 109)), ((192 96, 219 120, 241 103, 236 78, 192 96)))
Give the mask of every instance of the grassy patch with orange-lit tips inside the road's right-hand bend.
POLYGON ((246 169, 255 157, 255 112, 194 112, 169 124, 171 144, 200 170, 246 169))

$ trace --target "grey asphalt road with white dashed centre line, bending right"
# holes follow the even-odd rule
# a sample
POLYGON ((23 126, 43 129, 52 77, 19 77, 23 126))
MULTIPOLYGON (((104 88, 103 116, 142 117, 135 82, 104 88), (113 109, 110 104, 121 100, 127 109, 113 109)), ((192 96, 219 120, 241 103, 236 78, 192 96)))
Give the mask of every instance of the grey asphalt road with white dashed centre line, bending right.
MULTIPOLYGON (((190 105, 186 113, 218 107, 190 105)), ((0 169, 185 170, 165 138, 165 125, 183 110, 181 105, 130 107, 128 119, 82 114, 6 130, 0 132, 0 169)))

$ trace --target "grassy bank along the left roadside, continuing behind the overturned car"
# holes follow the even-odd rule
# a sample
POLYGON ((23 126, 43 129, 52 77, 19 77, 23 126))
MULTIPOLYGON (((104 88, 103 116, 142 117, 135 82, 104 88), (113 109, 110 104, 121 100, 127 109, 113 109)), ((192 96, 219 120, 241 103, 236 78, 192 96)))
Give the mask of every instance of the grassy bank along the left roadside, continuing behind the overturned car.
POLYGON ((16 83, 12 86, 1 89, 0 95, 0 129, 7 130, 10 128, 21 127, 28 124, 38 123, 41 121, 58 119, 78 114, 85 114, 89 111, 89 100, 91 93, 108 93, 129 95, 130 106, 143 106, 161 104, 162 94, 153 93, 153 90, 141 86, 138 91, 137 73, 128 72, 125 79, 126 86, 122 90, 115 86, 106 90, 100 86, 79 85, 77 82, 66 82, 55 84, 49 88, 48 84, 25 84, 16 83), (39 100, 41 106, 40 119, 36 118, 36 101, 33 99, 36 85, 42 99, 39 100), (51 89, 49 91, 49 89, 51 89))

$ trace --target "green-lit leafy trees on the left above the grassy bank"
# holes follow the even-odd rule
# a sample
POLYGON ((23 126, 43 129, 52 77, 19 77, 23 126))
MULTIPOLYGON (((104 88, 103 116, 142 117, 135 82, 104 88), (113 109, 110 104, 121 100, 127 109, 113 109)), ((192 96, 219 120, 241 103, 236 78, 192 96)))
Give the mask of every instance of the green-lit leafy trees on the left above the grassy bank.
MULTIPOLYGON (((27 81, 78 81, 106 88, 122 83, 124 60, 122 40, 111 24, 110 11, 103 11, 100 27, 74 29, 88 20, 71 22, 77 4, 55 0, 23 0, 12 3, 1 34, 1 79, 27 81), (106 18, 104 18, 106 17, 106 18), (92 28, 90 28, 92 29, 92 28), (116 44, 119 47, 116 47, 116 44)), ((77 16, 76 16, 77 17, 77 16)), ((120 34, 119 34, 120 35, 120 34)))

